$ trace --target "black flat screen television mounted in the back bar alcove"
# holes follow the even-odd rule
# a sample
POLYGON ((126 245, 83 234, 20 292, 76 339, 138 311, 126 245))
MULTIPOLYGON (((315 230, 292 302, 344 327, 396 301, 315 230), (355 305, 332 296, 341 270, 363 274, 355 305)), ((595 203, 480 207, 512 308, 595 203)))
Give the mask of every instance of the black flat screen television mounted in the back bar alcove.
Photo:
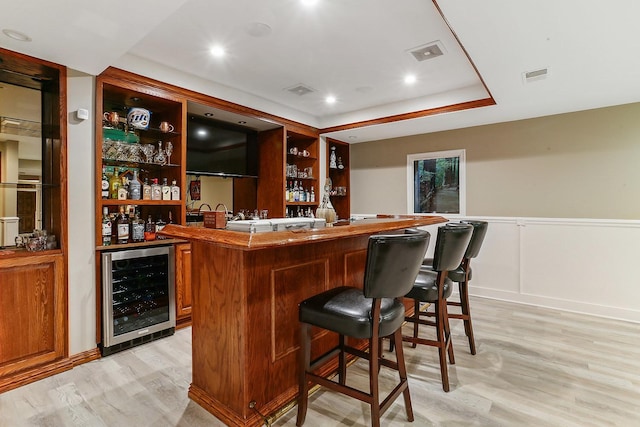
POLYGON ((257 178, 258 133, 190 115, 187 120, 187 173, 257 178))

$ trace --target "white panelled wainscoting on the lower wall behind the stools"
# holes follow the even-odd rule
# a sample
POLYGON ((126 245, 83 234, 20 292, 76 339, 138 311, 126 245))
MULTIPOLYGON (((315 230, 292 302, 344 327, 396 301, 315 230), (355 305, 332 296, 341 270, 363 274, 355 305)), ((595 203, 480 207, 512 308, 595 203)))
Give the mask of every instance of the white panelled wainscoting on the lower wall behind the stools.
POLYGON ((489 222, 471 295, 640 323, 640 221, 464 219, 489 222))

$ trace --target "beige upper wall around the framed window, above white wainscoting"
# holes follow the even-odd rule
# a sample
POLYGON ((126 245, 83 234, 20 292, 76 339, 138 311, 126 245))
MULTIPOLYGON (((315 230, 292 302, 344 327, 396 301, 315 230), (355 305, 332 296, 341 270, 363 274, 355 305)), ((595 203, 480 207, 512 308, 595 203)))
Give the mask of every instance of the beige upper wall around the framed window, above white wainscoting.
POLYGON ((640 218, 640 103, 354 144, 353 213, 405 213, 407 154, 466 149, 469 216, 640 218))

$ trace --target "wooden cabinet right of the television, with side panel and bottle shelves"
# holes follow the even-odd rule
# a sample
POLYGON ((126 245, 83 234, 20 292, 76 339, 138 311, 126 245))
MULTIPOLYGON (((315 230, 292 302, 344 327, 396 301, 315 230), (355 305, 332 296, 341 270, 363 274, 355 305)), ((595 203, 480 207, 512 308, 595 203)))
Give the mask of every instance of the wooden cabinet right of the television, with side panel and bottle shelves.
POLYGON ((298 212, 305 215, 309 211, 315 214, 320 201, 318 140, 316 129, 302 126, 277 128, 258 135, 258 207, 268 209, 270 217, 298 216, 298 212), (296 182, 309 194, 313 189, 315 201, 307 201, 306 197, 305 201, 295 201, 287 197, 287 188, 296 182))

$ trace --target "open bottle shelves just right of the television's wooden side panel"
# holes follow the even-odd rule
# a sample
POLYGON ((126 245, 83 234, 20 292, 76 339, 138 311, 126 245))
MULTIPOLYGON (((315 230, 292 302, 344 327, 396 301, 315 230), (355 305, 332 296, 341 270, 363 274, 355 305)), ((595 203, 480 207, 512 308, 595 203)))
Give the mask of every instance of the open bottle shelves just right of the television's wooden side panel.
POLYGON ((287 132, 285 216, 314 216, 318 206, 318 138, 287 132))

